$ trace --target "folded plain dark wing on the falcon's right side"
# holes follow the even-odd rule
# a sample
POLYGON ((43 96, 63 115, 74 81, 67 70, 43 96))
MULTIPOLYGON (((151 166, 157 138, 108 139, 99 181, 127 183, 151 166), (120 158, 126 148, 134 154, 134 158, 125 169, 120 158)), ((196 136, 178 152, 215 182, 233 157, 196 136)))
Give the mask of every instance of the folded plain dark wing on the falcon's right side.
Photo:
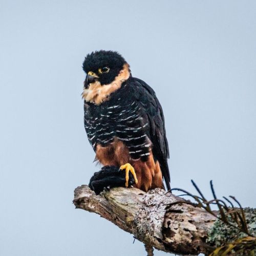
POLYGON ((148 137, 153 143, 153 156, 159 161, 161 172, 166 183, 166 187, 170 189, 170 174, 167 163, 169 158, 169 148, 165 133, 163 110, 157 99, 154 90, 144 81, 138 78, 131 78, 134 86, 134 96, 144 110, 150 129, 148 137))

